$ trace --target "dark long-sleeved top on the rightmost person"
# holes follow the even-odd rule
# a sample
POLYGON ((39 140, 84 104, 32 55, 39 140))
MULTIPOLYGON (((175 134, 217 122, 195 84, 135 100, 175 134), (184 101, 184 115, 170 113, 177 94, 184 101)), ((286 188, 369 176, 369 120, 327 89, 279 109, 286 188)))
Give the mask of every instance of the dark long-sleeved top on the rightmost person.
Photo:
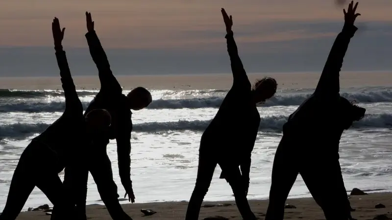
POLYGON ((318 139, 322 144, 339 148, 343 132, 343 129, 336 126, 340 99, 339 73, 348 44, 356 30, 354 25, 343 26, 331 48, 315 92, 289 116, 288 122, 283 126, 284 134, 299 137, 304 145, 314 144, 314 140, 318 139))

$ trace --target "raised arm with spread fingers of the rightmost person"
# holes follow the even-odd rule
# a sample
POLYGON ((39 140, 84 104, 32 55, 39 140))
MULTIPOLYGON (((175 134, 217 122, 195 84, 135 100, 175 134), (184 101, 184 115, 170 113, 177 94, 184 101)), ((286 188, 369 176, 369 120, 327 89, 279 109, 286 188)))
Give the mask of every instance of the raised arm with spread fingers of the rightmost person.
POLYGON ((347 12, 344 12, 344 26, 342 32, 338 34, 331 51, 329 52, 327 62, 322 70, 319 83, 315 90, 315 95, 324 98, 338 98, 340 91, 339 73, 343 65, 343 58, 350 43, 350 39, 354 36, 357 27, 354 26, 355 19, 360 15, 355 11, 358 2, 353 6, 353 1, 348 6, 347 12))

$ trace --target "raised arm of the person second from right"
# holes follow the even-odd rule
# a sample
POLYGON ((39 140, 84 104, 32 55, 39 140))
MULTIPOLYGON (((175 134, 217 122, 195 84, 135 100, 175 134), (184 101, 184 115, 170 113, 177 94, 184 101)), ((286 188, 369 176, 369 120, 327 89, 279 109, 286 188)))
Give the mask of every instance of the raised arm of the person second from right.
POLYGON ((229 53, 230 56, 230 62, 231 62, 231 71, 233 72, 233 81, 235 85, 248 85, 248 77, 246 75, 244 66, 241 62, 240 56, 238 55, 238 49, 237 49, 237 44, 234 41, 234 34, 233 31, 231 30, 231 27, 233 25, 233 19, 232 16, 228 16, 226 11, 222 8, 221 9, 222 16, 223 16, 223 21, 224 24, 226 25, 226 42, 227 42, 227 52, 229 53))

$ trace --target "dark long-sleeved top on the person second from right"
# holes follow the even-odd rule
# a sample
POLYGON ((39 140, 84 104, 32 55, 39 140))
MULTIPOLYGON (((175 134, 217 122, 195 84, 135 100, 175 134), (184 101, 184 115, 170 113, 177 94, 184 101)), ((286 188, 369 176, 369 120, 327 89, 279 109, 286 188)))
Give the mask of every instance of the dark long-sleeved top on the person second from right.
MULTIPOLYGON (((241 166, 248 164, 245 167, 250 167, 250 155, 260 125, 260 114, 253 101, 251 84, 238 55, 233 32, 228 33, 225 38, 231 61, 233 85, 214 119, 204 131, 202 139, 209 145, 210 150, 223 155, 228 153, 231 158, 227 159, 235 159, 241 166)), ((248 175, 249 171, 243 173, 248 175)))

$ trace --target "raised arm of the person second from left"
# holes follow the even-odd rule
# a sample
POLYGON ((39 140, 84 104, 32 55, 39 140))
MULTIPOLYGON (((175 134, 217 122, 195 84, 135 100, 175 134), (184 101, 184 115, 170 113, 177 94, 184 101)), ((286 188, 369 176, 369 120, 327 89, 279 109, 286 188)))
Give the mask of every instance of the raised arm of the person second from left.
POLYGON ((122 88, 110 69, 106 53, 94 30, 94 22, 91 13, 86 12, 87 34, 86 39, 89 45, 91 57, 98 68, 98 76, 101 84, 101 90, 110 92, 122 92, 122 88))

